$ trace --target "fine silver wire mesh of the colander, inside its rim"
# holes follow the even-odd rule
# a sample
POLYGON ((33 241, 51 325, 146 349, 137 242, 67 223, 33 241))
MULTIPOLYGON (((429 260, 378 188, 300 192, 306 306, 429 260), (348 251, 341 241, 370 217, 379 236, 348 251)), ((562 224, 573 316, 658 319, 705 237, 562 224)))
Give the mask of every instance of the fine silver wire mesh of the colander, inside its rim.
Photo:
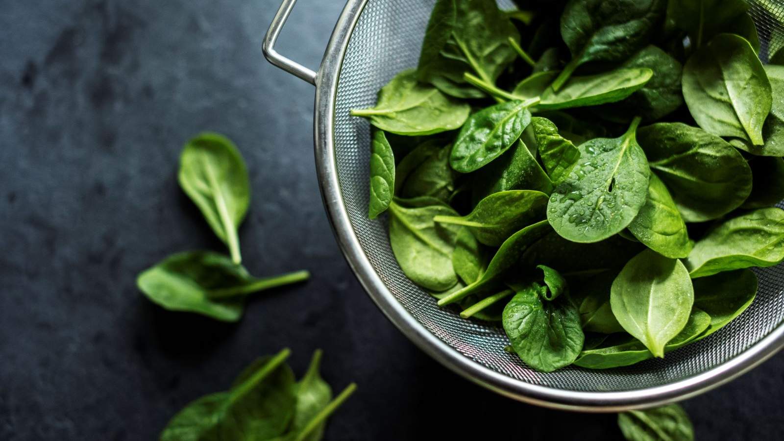
MULTIPOLYGON (((500 328, 438 308, 430 295, 401 272, 390 249, 386 217, 367 218, 369 126, 364 119, 349 115, 351 108, 375 104, 381 86, 397 72, 416 66, 433 4, 369 0, 350 37, 336 97, 334 142, 343 202, 373 268, 408 313, 458 352, 501 374, 530 384, 590 392, 648 388, 700 374, 739 355, 782 323, 784 266, 779 266, 757 271, 757 299, 738 319, 699 343, 668 353, 666 359, 614 370, 567 367, 542 374, 525 366, 517 355, 504 352, 508 340, 500 328)), ((760 13, 757 9, 759 5, 754 11, 760 13)), ((764 35, 770 35, 770 24, 766 21, 763 26, 764 35)))

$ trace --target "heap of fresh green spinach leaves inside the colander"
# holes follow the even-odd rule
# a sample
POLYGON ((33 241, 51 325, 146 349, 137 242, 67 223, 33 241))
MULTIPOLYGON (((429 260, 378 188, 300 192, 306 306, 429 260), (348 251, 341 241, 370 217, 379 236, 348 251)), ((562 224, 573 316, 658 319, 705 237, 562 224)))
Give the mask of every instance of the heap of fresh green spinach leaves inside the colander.
POLYGON ((418 66, 352 111, 369 217, 412 282, 535 370, 716 332, 753 301, 749 268, 784 260, 784 66, 760 62, 748 5, 517 4, 438 0, 418 66))

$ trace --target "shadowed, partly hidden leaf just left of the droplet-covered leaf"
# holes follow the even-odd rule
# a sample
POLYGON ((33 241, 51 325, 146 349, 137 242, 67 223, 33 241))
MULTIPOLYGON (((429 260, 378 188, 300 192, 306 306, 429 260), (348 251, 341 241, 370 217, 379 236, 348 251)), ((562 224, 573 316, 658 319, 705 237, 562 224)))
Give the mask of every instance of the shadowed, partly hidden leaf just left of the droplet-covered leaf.
POLYGON ((490 162, 477 172, 474 180, 474 200, 479 201, 499 191, 529 189, 549 195, 553 182, 536 161, 535 144, 522 140, 499 159, 490 162), (530 147, 528 144, 531 144, 530 147))

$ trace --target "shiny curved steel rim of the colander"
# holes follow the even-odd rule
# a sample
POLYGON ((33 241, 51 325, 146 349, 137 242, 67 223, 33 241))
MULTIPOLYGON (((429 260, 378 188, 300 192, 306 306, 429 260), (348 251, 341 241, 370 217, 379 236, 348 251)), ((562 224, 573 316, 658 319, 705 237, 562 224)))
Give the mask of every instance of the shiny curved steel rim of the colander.
POLYGON ((315 82, 314 154, 321 197, 343 257, 372 301, 408 340, 456 374, 501 395, 538 406, 583 412, 618 412, 687 399, 739 377, 784 347, 784 323, 779 323, 771 333, 739 355, 701 374, 650 388, 585 392, 532 385, 500 374, 458 352, 427 330, 395 299, 373 269, 354 233, 338 181, 334 144, 337 87, 350 37, 367 2, 348 0, 319 67, 315 82))

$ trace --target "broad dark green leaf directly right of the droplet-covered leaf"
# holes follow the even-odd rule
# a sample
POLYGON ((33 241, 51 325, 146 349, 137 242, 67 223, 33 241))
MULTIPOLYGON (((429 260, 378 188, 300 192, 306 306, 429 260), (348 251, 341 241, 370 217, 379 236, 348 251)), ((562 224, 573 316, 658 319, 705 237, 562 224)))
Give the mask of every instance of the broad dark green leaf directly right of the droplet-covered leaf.
POLYGON ((670 189, 684 221, 709 221, 738 208, 751 191, 751 169, 720 137, 680 122, 642 127, 648 165, 670 189))

